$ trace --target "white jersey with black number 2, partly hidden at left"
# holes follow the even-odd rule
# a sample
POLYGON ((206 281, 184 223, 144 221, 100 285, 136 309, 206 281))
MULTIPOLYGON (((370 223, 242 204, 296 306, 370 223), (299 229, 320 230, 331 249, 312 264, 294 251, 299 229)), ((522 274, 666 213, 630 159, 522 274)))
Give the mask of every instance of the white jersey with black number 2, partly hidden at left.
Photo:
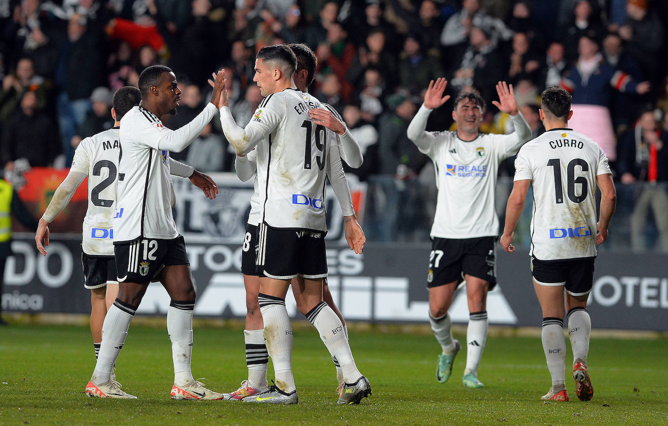
POLYGON ((83 218, 83 252, 114 256, 114 215, 118 162, 122 156, 118 128, 105 130, 81 141, 71 169, 88 176, 88 210, 83 218))

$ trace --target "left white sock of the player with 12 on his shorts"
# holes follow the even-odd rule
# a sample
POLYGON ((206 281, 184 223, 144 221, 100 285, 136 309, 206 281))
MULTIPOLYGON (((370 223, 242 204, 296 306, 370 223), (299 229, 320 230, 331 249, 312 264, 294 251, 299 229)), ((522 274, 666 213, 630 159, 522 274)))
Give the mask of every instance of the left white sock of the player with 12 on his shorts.
POLYGON ((112 379, 114 363, 128 337, 128 329, 136 311, 137 306, 121 302, 118 298, 107 311, 102 324, 102 343, 100 343, 98 362, 91 377, 91 381, 96 385, 112 379))

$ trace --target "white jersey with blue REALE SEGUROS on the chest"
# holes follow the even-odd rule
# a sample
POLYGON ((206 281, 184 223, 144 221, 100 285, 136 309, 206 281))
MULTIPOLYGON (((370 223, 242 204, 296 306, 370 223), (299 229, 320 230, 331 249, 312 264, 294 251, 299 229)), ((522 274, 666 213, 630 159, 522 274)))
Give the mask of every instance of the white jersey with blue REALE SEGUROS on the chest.
POLYGON ((500 162, 514 156, 521 143, 516 134, 479 134, 464 142, 457 132, 426 132, 433 136, 428 150, 436 168, 438 198, 432 237, 498 236, 494 208, 500 162))

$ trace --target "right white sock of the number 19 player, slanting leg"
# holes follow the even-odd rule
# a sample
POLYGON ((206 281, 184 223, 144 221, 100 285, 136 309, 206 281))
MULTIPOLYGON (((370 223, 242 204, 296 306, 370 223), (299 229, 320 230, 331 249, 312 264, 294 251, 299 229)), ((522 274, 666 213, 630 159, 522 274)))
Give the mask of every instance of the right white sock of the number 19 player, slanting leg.
POLYGON ((348 338, 345 337, 343 324, 337 314, 327 303, 320 302, 315 308, 309 310, 306 317, 317 329, 329 353, 339 362, 345 383, 355 383, 362 377, 362 373, 359 373, 355 365, 348 338))

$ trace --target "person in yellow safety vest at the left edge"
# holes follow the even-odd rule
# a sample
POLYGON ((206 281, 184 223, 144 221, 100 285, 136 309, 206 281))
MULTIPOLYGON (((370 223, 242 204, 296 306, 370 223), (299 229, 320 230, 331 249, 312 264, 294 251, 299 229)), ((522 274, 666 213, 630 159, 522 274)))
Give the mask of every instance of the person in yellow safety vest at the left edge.
MULTIPOLYGON (((0 178, 0 300, 4 298, 5 262, 11 256, 11 214, 27 228, 37 230, 35 216, 23 204, 11 184, 0 178)), ((2 318, 2 306, 0 302, 0 325, 6 325, 2 318)))

